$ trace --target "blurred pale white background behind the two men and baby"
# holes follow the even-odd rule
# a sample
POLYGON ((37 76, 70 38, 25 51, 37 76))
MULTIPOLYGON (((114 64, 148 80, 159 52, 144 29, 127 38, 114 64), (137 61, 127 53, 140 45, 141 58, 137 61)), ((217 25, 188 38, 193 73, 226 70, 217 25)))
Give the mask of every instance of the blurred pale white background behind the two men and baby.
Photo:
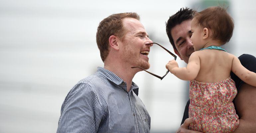
MULTIPOLYGON (((99 22, 114 13, 137 12, 151 39, 173 52, 165 21, 198 0, 0 0, 0 132, 56 132, 61 105, 70 88, 103 66, 96 45, 99 22)), ((199 1, 200 2, 200 1, 199 1)), ((256 56, 256 4, 230 1, 235 21, 232 51, 256 56)), ((166 72, 173 59, 153 47, 149 71, 166 72)), ((177 58, 180 66, 185 63, 177 58)), ((139 96, 151 115, 151 132, 178 129, 188 84, 168 74, 135 75, 139 96)))

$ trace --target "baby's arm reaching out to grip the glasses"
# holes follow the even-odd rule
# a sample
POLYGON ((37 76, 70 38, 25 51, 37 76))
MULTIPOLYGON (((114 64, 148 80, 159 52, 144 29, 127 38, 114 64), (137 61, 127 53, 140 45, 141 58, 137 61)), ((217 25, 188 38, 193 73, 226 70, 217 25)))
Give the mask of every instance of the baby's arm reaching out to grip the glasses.
POLYGON ((200 70, 200 59, 196 52, 193 52, 190 55, 187 67, 179 68, 178 63, 171 60, 166 64, 166 68, 179 79, 190 81, 196 78, 200 70))

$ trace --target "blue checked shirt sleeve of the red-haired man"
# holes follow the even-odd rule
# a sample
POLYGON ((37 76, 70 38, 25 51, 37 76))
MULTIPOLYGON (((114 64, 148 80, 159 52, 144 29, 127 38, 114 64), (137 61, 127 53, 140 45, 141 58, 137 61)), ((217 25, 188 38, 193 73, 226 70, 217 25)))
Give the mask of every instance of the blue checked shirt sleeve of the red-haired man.
POLYGON ((64 100, 57 132, 97 132, 102 116, 102 108, 92 87, 77 83, 64 100))

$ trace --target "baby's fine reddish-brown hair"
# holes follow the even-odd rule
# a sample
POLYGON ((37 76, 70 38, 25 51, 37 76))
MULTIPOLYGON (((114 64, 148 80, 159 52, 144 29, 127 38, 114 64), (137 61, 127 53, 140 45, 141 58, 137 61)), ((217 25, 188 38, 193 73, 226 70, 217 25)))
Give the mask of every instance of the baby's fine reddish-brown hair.
POLYGON ((223 7, 208 7, 195 13, 194 19, 202 28, 211 29, 211 38, 219 40, 222 45, 229 42, 233 35, 234 20, 223 7))

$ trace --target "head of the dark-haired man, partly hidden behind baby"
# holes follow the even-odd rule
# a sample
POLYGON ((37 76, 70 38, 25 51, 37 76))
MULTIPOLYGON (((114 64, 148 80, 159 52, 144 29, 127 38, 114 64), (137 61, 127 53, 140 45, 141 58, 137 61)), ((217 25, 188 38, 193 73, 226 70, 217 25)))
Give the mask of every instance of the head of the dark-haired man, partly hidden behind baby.
POLYGON ((166 33, 173 46, 174 52, 186 63, 188 63, 191 53, 194 52, 193 44, 190 40, 192 36, 190 24, 194 12, 195 11, 192 9, 183 8, 175 15, 171 16, 166 22, 166 33), (183 36, 180 36, 180 34, 183 36), (177 46, 175 44, 177 44, 177 46))

